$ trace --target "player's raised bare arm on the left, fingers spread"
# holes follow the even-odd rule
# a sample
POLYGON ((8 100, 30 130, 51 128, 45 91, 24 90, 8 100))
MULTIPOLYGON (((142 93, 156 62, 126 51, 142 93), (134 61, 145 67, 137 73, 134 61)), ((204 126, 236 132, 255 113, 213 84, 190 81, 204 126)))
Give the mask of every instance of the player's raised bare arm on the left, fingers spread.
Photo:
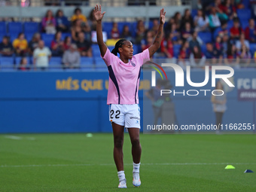
POLYGON ((97 25, 96 25, 97 43, 99 45, 100 54, 102 56, 105 55, 105 52, 108 49, 107 45, 105 45, 103 41, 103 35, 102 35, 102 18, 104 14, 105 14, 105 11, 102 13, 102 6, 96 5, 95 9, 93 10, 93 15, 97 22, 97 25))

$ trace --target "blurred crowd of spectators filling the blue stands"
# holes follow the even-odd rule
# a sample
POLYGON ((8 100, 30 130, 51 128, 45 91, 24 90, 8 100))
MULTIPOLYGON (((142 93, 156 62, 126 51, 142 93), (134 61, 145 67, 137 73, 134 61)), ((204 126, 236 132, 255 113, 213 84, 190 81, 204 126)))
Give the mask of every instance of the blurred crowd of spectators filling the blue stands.
MULTIPOLYGON (((155 58, 178 59, 181 67, 221 64, 239 68, 239 63, 250 66, 251 59, 256 58, 256 52, 250 49, 251 44, 256 43, 255 15, 242 3, 238 0, 198 1, 197 10, 176 12, 164 25, 163 41, 155 58), (247 15, 239 17, 239 11, 247 15)), ((143 20, 135 23, 136 29, 131 24, 122 25, 122 29, 118 26, 120 23, 108 24, 111 27, 105 29, 103 23, 108 40, 126 38, 133 42, 135 53, 139 53, 153 43, 159 19, 151 20, 148 28, 143 20)), ((80 8, 75 8, 71 18, 67 18, 62 10, 56 11, 55 15, 48 10, 40 28, 31 41, 26 40, 23 32, 12 42, 4 36, 0 54, 20 56, 20 65, 24 66, 26 57, 31 56, 33 64, 42 68, 49 65, 50 56, 62 57, 63 68, 78 68, 81 56, 99 57, 93 54, 92 48, 96 43, 92 41, 92 32, 96 30, 93 10, 88 18, 80 8), (48 46, 44 45, 42 34, 54 35, 48 46)))

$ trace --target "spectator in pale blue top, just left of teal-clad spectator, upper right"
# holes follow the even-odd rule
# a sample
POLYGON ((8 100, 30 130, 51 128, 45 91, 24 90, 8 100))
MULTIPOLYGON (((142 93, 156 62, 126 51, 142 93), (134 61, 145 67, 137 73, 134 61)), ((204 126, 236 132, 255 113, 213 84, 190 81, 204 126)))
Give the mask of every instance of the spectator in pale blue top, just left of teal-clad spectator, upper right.
POLYGON ((197 16, 194 17, 195 31, 207 32, 209 31, 209 19, 204 14, 203 10, 197 11, 197 16))

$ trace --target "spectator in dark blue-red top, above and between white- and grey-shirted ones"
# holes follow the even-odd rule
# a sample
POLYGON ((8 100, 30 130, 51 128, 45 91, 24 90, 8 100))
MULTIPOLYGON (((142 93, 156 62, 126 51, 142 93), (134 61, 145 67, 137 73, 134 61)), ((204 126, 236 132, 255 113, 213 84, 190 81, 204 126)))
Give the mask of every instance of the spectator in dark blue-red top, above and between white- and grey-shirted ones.
POLYGON ((62 33, 56 32, 53 41, 50 43, 52 56, 62 56, 64 52, 64 42, 62 41, 62 33))

